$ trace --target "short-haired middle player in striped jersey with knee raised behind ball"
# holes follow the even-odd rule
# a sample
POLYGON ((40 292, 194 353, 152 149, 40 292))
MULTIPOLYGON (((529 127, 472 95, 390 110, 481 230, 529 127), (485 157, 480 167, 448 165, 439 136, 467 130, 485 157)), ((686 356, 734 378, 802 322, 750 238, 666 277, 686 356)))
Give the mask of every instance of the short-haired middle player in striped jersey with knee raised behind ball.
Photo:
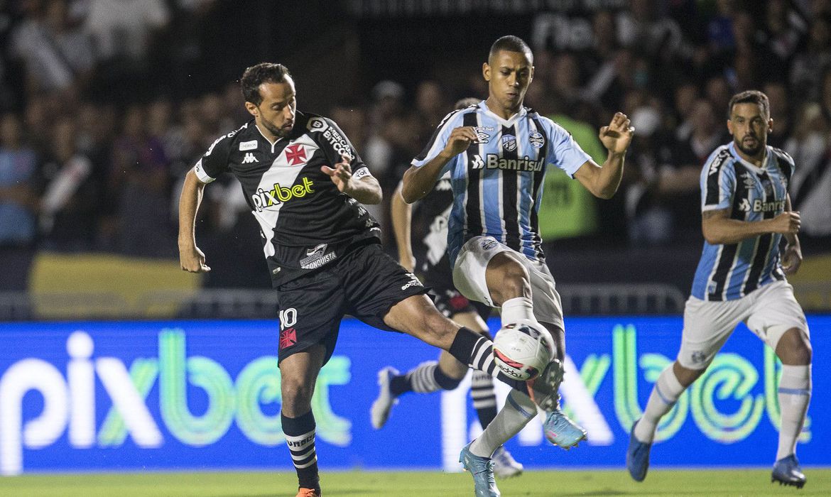
MULTIPOLYGON (((523 106, 534 77, 534 56, 525 42, 499 38, 482 75, 488 99, 445 117, 406 171, 401 194, 414 202, 450 173, 454 204, 447 246, 455 288, 470 300, 502 308, 503 327, 528 322, 548 330, 558 357, 540 376, 561 375, 563 311, 538 234, 543 176, 554 165, 597 197, 610 198, 620 184, 632 127, 621 113, 602 127, 608 157, 600 167, 566 130, 523 106)), ((558 395, 534 401, 548 412, 543 428, 553 444, 568 449, 585 438, 559 410, 558 395)), ((490 457, 536 414, 534 402, 512 393, 484 433, 462 450, 460 462, 474 475, 476 495, 499 495, 490 457)))

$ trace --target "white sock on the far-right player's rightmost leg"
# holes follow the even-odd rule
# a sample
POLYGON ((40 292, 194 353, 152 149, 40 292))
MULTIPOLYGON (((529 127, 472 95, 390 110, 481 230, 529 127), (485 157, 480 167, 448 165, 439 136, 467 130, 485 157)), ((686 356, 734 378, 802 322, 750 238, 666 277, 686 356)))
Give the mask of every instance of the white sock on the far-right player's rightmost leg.
POLYGON ((811 400, 811 366, 782 365, 779 379, 779 411, 782 426, 779 428, 779 448, 776 460, 796 454, 796 441, 802 433, 805 412, 811 400))

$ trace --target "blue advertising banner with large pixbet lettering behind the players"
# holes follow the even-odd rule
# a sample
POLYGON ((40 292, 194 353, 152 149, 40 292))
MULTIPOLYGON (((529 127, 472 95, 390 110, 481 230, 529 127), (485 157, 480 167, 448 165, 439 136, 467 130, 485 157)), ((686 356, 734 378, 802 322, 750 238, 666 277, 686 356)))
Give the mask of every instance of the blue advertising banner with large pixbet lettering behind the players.
MULTIPOLYGON (((829 357, 831 316, 809 316, 814 357, 829 357)), ((492 329, 499 322, 490 322, 492 329)), ((676 355, 680 317, 571 318, 563 406, 588 431, 568 452, 540 417, 507 445, 527 468, 622 467, 632 421, 676 355)), ((0 472, 291 470, 280 428, 275 321, 64 322, 0 325, 0 472)), ((323 469, 460 470, 481 428, 470 375, 455 391, 406 394, 380 431, 369 408, 376 374, 438 351, 356 320, 317 381, 312 409, 323 469)), ((798 447, 831 465, 831 371, 814 364, 814 397, 798 447), (823 444, 821 440, 825 440, 823 444)), ((778 436, 779 365, 742 325, 663 420, 652 465, 769 466, 778 436)), ((499 384, 504 399, 508 388, 499 384)))

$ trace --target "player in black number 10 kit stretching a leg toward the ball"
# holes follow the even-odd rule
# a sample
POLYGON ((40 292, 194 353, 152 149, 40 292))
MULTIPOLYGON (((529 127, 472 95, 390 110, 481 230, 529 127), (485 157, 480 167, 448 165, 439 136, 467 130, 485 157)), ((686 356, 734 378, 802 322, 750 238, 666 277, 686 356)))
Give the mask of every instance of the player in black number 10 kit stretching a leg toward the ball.
POLYGON ((379 203, 381 186, 337 124, 297 111, 288 69, 261 63, 240 83, 253 120, 220 136, 189 170, 179 199, 179 258, 184 271, 210 270, 196 245, 195 218, 204 185, 229 171, 258 220, 278 292, 281 416, 298 497, 321 495, 312 393, 346 314, 440 347, 548 406, 558 370, 527 383, 505 375, 489 338, 443 316, 418 278, 381 250, 380 228, 361 206, 379 203))

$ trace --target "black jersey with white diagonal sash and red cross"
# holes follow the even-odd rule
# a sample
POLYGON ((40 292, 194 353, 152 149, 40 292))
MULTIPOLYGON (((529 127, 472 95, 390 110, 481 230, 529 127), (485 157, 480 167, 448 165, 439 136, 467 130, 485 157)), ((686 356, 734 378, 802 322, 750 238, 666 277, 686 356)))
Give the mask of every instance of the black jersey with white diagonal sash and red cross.
POLYGON ((298 111, 287 137, 271 143, 248 121, 220 136, 194 166, 204 183, 230 171, 243 186, 275 288, 331 263, 358 241, 380 243, 376 220, 320 170, 342 154, 352 158, 353 179, 370 175, 334 121, 298 111))

